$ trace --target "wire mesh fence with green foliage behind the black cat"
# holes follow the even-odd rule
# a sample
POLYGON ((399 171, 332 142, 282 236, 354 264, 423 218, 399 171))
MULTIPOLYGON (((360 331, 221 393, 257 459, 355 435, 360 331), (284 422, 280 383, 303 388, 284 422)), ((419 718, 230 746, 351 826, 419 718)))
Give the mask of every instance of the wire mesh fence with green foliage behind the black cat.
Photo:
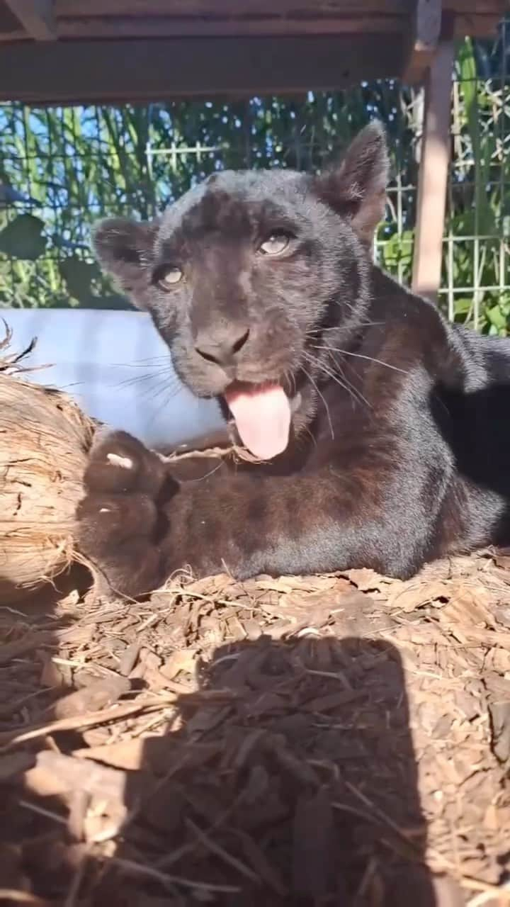
MULTIPOLYGON (((491 333, 510 325, 510 19, 460 43, 440 304, 491 333)), ((150 218, 232 167, 318 170, 372 117, 394 178, 375 255, 410 281, 423 93, 395 81, 247 102, 33 109, 0 105, 0 307, 126 307, 90 253, 93 221, 150 218)))

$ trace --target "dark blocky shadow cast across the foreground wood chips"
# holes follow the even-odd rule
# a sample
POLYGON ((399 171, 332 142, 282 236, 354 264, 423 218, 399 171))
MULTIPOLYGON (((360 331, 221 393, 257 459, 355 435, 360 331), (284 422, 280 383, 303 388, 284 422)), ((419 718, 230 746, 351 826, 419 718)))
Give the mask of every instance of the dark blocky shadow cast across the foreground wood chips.
MULTIPOLYGON (((52 907, 434 907, 408 722, 386 641, 221 646, 166 733, 138 740, 115 845, 31 814, 21 869, 52 907)), ((106 800, 121 773, 104 772, 106 800)))

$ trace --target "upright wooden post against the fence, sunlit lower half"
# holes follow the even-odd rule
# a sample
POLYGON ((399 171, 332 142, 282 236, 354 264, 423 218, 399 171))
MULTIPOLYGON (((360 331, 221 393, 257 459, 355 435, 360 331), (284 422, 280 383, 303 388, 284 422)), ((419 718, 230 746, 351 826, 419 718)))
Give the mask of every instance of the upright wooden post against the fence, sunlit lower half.
POLYGON ((441 285, 453 64, 454 43, 441 41, 425 85, 412 278, 414 292, 431 299, 441 285))

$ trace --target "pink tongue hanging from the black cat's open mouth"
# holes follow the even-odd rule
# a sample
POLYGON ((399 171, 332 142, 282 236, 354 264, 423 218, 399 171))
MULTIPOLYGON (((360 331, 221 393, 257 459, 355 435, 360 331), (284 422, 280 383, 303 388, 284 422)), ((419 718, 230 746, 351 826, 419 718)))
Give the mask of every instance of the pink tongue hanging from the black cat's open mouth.
POLYGON ((271 460, 289 444, 290 404, 280 385, 227 391, 225 399, 242 443, 259 460, 271 460))

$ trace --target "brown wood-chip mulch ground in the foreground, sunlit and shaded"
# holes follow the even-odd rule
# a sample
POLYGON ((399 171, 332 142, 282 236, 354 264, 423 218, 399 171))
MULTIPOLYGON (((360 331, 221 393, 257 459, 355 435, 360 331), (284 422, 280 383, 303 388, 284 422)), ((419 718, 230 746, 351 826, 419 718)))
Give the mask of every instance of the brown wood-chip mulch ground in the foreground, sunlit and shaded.
POLYGON ((0 903, 510 904, 510 557, 0 609, 0 903))

